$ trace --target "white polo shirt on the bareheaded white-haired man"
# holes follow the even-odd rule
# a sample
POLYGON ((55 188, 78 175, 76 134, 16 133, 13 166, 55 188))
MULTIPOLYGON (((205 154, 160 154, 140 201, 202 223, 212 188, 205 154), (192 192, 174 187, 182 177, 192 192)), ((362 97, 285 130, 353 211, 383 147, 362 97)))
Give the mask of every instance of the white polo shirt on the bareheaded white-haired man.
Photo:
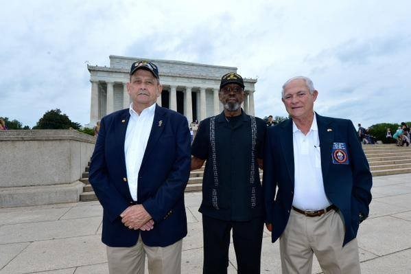
MULTIPOLYGON (((324 209, 331 205, 322 181, 320 139, 316 114, 307 135, 292 122, 294 144, 294 199, 292 205, 303 210, 324 209)), ((331 155, 330 155, 331 157, 331 155)))

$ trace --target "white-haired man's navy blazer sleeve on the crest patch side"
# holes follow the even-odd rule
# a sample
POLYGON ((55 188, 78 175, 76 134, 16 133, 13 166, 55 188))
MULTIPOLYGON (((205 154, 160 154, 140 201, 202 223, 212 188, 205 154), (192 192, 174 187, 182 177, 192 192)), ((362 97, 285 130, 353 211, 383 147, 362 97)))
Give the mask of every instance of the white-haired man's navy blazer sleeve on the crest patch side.
POLYGON ((371 187, 373 176, 371 175, 368 161, 364 150, 358 141, 357 131, 353 122, 349 121, 348 137, 351 150, 351 168, 353 171, 353 198, 357 201, 358 209, 363 218, 368 217, 369 205, 371 203, 371 187))

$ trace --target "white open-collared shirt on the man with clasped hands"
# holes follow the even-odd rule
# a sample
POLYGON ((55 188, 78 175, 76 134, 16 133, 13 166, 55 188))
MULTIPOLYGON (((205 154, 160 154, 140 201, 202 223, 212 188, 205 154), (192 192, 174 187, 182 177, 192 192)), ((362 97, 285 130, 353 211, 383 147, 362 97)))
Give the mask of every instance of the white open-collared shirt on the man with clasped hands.
POLYGON ((128 189, 134 201, 137 201, 137 183, 139 171, 150 137, 156 104, 143 109, 140 115, 132 109, 130 104, 130 121, 128 121, 126 140, 124 141, 124 155, 126 155, 126 170, 128 189))

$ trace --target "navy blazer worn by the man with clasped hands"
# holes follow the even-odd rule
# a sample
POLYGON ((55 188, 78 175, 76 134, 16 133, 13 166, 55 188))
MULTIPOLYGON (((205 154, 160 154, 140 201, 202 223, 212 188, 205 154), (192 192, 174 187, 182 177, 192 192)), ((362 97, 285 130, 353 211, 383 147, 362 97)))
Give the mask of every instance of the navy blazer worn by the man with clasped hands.
POLYGON ((184 190, 191 165, 187 119, 156 105, 137 188, 137 203, 152 216, 154 229, 140 231, 125 227, 120 217, 132 203, 124 154, 129 118, 128 109, 102 118, 91 158, 89 181, 104 209, 102 242, 132 247, 141 233, 146 245, 166 247, 187 235, 184 190))

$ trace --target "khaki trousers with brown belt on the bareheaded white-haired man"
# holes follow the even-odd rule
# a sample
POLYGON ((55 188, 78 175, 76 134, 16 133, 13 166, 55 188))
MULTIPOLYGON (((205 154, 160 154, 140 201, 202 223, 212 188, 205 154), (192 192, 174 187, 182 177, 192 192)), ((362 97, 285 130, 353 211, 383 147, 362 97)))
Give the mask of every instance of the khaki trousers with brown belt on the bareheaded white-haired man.
POLYGON ((292 209, 280 238, 283 274, 311 274, 313 253, 325 274, 361 273, 357 239, 342 247, 343 241, 344 223, 335 210, 307 217, 292 209))

